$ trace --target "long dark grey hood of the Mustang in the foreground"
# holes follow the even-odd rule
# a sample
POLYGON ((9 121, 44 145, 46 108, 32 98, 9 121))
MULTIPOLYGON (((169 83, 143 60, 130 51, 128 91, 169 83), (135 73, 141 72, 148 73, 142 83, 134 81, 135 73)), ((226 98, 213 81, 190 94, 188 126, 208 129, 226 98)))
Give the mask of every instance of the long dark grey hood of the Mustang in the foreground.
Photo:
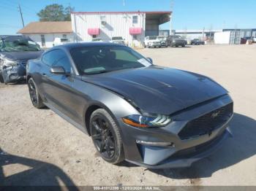
POLYGON ((82 80, 118 93, 143 112, 154 114, 173 114, 227 94, 208 77, 159 66, 95 74, 82 80))

